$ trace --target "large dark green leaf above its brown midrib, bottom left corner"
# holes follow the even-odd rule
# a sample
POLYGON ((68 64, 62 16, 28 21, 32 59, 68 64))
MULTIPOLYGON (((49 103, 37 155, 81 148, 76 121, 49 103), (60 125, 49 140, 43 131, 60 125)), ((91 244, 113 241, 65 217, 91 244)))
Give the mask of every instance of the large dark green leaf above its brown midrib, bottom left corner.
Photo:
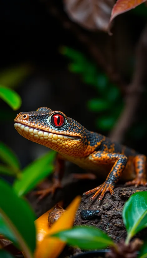
POLYGON ((28 203, 17 196, 11 186, 0 180, 0 213, 27 258, 36 247, 35 215, 28 203))

